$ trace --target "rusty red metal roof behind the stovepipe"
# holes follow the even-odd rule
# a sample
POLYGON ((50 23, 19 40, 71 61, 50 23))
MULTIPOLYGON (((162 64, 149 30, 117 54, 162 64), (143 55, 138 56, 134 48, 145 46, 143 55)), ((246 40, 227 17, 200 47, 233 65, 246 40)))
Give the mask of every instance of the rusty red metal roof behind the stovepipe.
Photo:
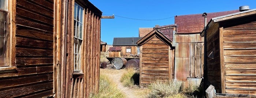
MULTIPOLYGON (((239 10, 207 13, 207 22, 209 22, 211 18, 233 14, 236 12, 239 12, 239 10)), ((204 29, 204 17, 202 14, 175 16, 177 33, 200 33, 204 29)))

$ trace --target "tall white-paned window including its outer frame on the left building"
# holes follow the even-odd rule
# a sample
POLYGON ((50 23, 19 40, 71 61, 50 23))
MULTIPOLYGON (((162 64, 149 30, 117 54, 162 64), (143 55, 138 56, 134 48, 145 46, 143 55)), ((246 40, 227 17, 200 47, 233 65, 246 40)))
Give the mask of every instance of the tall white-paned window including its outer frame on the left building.
POLYGON ((84 17, 85 8, 74 2, 73 7, 73 73, 82 73, 82 41, 83 41, 83 31, 84 31, 84 17), (79 11, 78 8, 79 7, 79 11), (77 9, 76 9, 77 8, 77 9), (75 12, 76 11, 76 12, 75 12), (82 11, 82 12, 81 12, 82 11), (75 17, 75 14, 79 12, 79 17, 75 17), (81 18, 82 14, 82 18, 81 18), (79 26, 78 26, 79 25, 79 26), (76 59, 78 58, 78 59, 76 59))

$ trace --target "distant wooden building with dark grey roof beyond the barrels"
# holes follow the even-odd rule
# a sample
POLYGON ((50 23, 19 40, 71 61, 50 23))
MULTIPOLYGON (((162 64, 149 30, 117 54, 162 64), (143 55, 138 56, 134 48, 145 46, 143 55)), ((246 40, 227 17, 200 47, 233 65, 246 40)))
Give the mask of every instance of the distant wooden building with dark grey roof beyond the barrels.
MULTIPOLYGON (((140 54, 140 47, 136 42, 141 39, 140 37, 126 37, 126 38, 114 38, 113 47, 121 47, 120 54, 119 51, 112 51, 112 54, 119 57, 130 57, 140 54)), ((114 56, 110 54, 110 57, 114 56)))

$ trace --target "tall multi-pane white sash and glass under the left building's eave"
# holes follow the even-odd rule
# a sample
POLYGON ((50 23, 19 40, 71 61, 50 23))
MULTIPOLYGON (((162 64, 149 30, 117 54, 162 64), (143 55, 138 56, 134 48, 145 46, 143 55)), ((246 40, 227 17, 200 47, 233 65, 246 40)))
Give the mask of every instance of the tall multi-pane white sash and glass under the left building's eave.
POLYGON ((74 5, 74 72, 81 72, 81 43, 84 8, 77 3, 74 5))

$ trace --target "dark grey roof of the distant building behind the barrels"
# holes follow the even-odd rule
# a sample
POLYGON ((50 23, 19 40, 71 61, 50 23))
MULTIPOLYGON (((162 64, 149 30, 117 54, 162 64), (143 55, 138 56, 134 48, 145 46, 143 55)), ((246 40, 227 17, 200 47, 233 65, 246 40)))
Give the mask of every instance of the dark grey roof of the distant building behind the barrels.
POLYGON ((138 46, 136 42, 141 37, 114 38, 113 46, 138 46))

